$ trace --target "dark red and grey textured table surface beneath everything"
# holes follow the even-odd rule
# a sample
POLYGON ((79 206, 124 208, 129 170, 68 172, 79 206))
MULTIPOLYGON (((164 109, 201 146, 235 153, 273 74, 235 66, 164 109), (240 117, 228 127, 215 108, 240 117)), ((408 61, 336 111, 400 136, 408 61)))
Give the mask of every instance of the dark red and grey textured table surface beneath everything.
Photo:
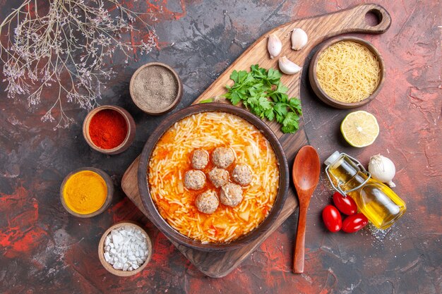
MULTIPOLYGON (((0 1, 0 19, 15 2, 0 1)), ((158 48, 127 66, 114 60, 118 74, 102 93, 100 104, 123 106, 137 124, 135 142, 116 156, 88 147, 81 134, 86 111, 77 105, 66 105, 75 123, 52 130, 54 125, 40 121, 49 105, 44 99, 29 107, 26 99, 7 99, 1 91, 0 293, 442 293, 440 1, 381 1, 393 18, 390 29, 359 36, 372 42, 386 63, 383 90, 362 108, 381 127, 374 145, 348 147, 339 125, 350 111, 319 102, 306 71, 302 77, 306 133, 321 160, 339 149, 364 163, 378 153, 395 162, 395 191, 408 211, 386 235, 366 229, 354 234, 325 231, 321 209, 332 192, 322 175, 307 219, 304 274, 291 271, 296 213, 238 269, 225 278, 208 278, 119 188, 124 171, 165 118, 143 114, 131 102, 128 85, 136 68, 148 61, 176 68, 184 82, 177 108, 182 109, 266 31, 354 4, 359 1, 155 2, 151 7, 157 8, 158 48), (64 176, 81 166, 107 171, 117 188, 112 206, 92 219, 71 216, 59 201, 64 176), (108 274, 97 257, 102 233, 121 220, 141 223, 153 240, 150 264, 130 278, 108 274)))

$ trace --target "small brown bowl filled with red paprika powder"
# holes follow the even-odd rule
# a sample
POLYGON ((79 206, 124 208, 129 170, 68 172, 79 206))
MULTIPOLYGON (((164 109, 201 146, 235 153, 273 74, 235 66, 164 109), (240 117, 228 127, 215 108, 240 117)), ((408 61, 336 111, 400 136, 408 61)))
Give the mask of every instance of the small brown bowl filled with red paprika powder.
POLYGON ((83 122, 83 137, 98 152, 119 154, 128 149, 135 139, 135 121, 120 106, 98 106, 83 122))

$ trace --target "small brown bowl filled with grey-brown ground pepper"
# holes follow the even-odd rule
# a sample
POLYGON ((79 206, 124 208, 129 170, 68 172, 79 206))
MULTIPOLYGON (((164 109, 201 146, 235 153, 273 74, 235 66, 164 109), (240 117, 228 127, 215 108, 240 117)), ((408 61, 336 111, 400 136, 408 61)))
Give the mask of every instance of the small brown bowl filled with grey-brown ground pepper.
POLYGON ((129 92, 138 108, 146 114, 159 116, 177 106, 183 96, 183 85, 173 68, 152 62, 133 73, 129 92))

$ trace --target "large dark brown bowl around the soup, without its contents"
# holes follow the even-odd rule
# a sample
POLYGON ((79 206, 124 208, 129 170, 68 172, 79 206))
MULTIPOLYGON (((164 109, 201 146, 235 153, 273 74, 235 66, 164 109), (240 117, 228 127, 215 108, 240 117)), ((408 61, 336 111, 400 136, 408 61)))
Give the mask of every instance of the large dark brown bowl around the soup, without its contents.
POLYGON ((155 226, 157 226, 157 228, 159 228, 160 231, 162 231, 162 233, 164 233, 170 240, 174 240, 181 245, 203 251, 213 252, 234 250, 251 243, 261 234, 265 233, 265 231, 268 231, 272 223, 277 219, 277 216, 280 214, 282 207, 284 206, 285 200, 287 198, 288 188, 289 169, 287 166, 287 159, 285 157, 284 150, 282 149, 282 146, 273 131, 268 127, 268 125, 261 121, 260 118, 251 114, 249 111, 229 104, 196 104, 185 109, 181 109, 181 111, 178 111, 172 116, 169 116, 167 120, 162 121, 162 123, 158 125, 158 127, 150 135, 148 142, 146 142, 144 145, 144 149, 140 157, 140 163, 138 164, 138 190, 141 195, 143 206, 150 215, 150 221, 152 221, 155 226), (277 192, 275 203, 273 204, 273 208, 271 209, 270 214, 268 214, 267 218, 265 218, 265 220, 258 226, 258 228, 255 228, 250 233, 243 235, 230 243, 201 243, 200 241, 193 240, 186 237, 185 235, 181 235, 181 233, 179 233, 178 231, 175 231, 174 228, 172 228, 172 226, 169 226, 169 223, 167 223, 167 221, 165 221, 165 219, 163 219, 160 213, 157 211, 155 203, 153 202, 152 197, 150 197, 150 190, 146 177, 150 155, 152 154, 153 149, 155 148, 155 145, 157 144, 157 141, 160 139, 160 137, 172 125, 174 125, 174 123, 180 121, 182 118, 191 116, 192 114, 198 114, 200 112, 207 111, 222 111, 229 114, 234 114, 241 118, 244 118, 246 121, 249 121, 249 123, 255 125, 258 130, 261 130, 261 132, 263 132, 267 140, 270 142, 270 145, 272 145, 280 166, 280 188, 277 192))

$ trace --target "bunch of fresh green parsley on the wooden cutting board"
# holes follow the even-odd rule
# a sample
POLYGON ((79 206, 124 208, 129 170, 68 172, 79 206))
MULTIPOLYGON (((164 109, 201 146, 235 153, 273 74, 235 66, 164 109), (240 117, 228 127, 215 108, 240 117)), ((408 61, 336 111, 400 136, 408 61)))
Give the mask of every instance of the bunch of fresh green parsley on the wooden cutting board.
POLYGON ((282 74, 270 68, 251 66, 251 71, 233 71, 230 78, 234 85, 226 85, 228 92, 223 96, 237 105, 242 102, 246 109, 269 121, 276 119, 282 125, 282 133, 294 133, 299 127, 302 115, 301 101, 289 98, 288 88, 280 82, 282 74))

